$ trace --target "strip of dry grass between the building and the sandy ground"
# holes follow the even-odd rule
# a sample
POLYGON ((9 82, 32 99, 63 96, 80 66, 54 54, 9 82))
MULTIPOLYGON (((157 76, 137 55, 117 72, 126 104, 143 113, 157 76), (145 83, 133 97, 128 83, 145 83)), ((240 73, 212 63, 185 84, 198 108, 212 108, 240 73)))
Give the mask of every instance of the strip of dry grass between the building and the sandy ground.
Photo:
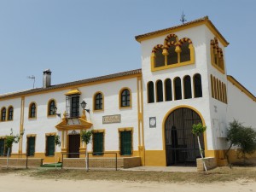
POLYGON ((90 171, 85 170, 0 170, 0 173, 18 172, 30 177, 69 180, 110 180, 125 182, 212 183, 246 179, 256 182, 256 167, 218 167, 209 172, 146 172, 146 171, 90 171))

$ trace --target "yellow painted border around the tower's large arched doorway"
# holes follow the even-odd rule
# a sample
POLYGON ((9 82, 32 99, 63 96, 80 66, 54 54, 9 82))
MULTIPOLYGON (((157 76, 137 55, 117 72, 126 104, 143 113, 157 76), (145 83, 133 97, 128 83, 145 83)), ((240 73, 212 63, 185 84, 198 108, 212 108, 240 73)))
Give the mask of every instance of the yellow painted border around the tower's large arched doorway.
MULTIPOLYGON (((175 108, 172 108, 171 110, 169 110, 165 117, 163 118, 163 121, 162 121, 162 144, 163 144, 163 150, 165 151, 165 165, 166 165, 166 119, 169 117, 169 115, 175 111, 176 109, 178 108, 189 108, 193 111, 195 111, 195 113, 197 113, 200 118, 201 118, 201 122, 204 126, 206 126, 206 122, 205 122, 205 119, 203 118, 202 114, 196 109, 196 108, 193 108, 189 105, 179 105, 175 108)), ((204 132, 204 147, 205 147, 205 153, 207 153, 207 131, 204 132)))

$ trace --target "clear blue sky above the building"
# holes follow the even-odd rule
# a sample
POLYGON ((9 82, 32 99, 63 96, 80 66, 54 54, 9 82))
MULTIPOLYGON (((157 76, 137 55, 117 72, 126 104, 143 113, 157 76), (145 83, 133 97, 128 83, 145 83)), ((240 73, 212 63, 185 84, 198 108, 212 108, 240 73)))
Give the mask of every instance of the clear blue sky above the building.
POLYGON ((136 35, 205 15, 229 42, 225 64, 256 95, 256 3, 244 1, 0 0, 0 93, 141 67, 136 35))

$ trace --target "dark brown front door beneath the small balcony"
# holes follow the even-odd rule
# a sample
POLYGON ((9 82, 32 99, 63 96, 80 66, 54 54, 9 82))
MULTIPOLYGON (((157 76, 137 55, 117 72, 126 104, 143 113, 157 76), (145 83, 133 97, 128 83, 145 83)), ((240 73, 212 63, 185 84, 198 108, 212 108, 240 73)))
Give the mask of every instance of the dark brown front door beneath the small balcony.
POLYGON ((79 158, 79 147, 80 147, 80 135, 69 135, 68 136, 68 154, 69 158, 79 158), (76 153, 76 154, 73 154, 76 153))

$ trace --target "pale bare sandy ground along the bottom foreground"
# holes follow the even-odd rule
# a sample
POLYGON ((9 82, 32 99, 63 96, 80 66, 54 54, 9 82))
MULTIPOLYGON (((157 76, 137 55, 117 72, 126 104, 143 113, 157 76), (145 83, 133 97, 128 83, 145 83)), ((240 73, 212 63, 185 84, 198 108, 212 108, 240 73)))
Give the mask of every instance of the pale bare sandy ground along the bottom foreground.
POLYGON ((208 192, 242 191, 256 192, 256 183, 246 180, 229 183, 135 183, 90 180, 54 180, 24 177, 13 173, 0 175, 0 192, 84 192, 84 191, 124 191, 124 192, 208 192))

